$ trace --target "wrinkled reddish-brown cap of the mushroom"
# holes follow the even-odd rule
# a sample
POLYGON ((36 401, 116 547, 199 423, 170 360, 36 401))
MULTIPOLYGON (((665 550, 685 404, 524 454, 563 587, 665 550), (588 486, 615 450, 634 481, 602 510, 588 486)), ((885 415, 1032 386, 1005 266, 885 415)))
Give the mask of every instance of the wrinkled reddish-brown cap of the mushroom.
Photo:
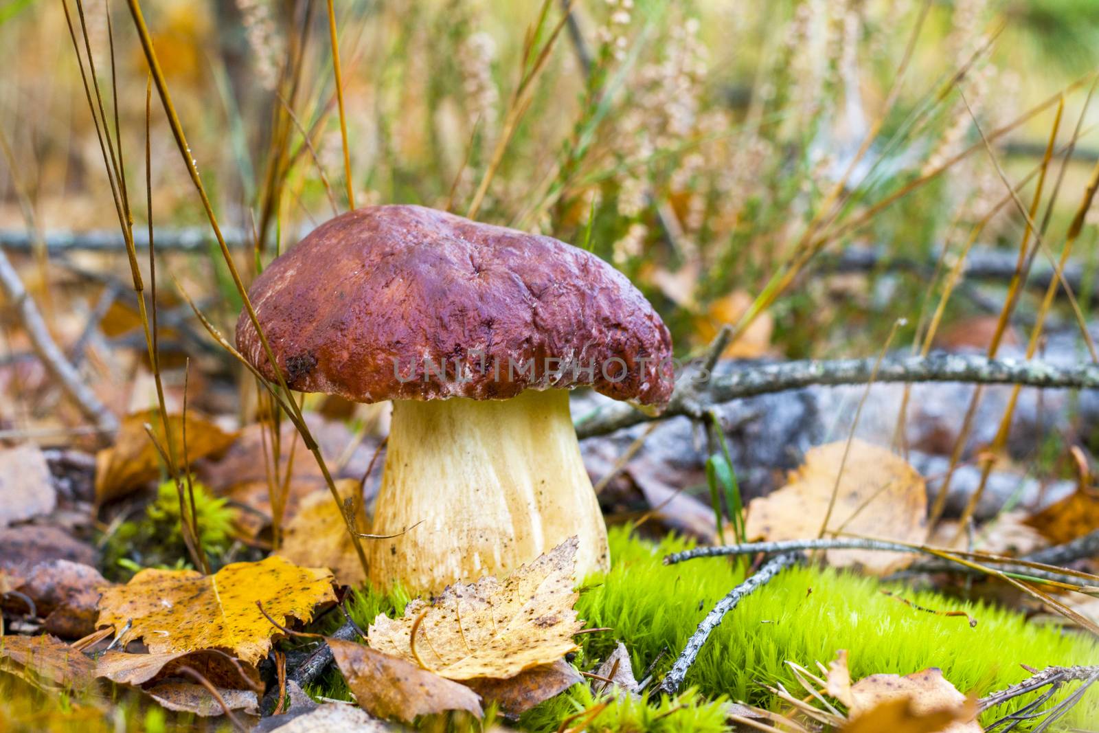
MULTIPOLYGON (((299 391, 375 402, 590 385, 644 404, 671 393, 671 337, 625 276, 552 237, 434 209, 336 216, 248 296, 299 391)), ((275 379, 246 312, 236 345, 275 379)))

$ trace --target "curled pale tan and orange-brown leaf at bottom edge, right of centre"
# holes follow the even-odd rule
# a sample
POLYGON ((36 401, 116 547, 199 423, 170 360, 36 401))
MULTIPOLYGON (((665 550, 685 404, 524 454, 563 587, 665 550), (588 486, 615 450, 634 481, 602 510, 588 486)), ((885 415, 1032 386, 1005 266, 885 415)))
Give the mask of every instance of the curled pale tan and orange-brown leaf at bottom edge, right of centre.
POLYGON ((848 714, 847 733, 981 733, 976 706, 935 667, 864 677, 851 687, 848 714))

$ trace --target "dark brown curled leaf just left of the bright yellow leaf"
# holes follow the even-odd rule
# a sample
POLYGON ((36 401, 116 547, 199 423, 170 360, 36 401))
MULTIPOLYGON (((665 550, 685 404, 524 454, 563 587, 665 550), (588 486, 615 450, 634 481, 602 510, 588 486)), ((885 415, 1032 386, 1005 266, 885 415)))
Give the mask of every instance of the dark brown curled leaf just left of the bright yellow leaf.
POLYGON ((31 568, 19 591, 34 601, 47 633, 79 638, 96 630, 99 593, 110 585, 91 566, 58 559, 31 568))

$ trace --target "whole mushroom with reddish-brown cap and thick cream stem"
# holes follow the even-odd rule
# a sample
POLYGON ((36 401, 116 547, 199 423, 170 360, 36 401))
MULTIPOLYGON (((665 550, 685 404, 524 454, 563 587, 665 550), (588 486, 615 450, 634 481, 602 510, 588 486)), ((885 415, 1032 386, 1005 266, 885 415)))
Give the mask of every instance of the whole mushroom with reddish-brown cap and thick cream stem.
MULTIPOLYGON (((577 535, 607 569, 607 527, 568 390, 663 406, 671 338, 618 270, 557 240, 415 206, 351 211, 249 291, 288 386, 392 400, 369 577, 410 590, 502 576, 577 535)), ((241 353, 275 373, 252 322, 241 353)))

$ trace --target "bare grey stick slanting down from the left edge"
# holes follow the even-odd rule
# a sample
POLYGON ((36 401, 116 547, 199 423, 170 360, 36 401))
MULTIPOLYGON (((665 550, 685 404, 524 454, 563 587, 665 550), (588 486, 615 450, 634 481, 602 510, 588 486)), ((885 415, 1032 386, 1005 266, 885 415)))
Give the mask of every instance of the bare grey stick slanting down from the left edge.
POLYGON ((23 281, 19 279, 19 274, 2 248, 0 248, 0 289, 3 290, 8 304, 18 313, 34 352, 65 393, 85 417, 95 421, 100 430, 106 433, 115 432, 119 429, 118 418, 99 401, 91 388, 84 382, 80 373, 65 357, 54 337, 49 335, 49 329, 46 327, 37 306, 26 292, 23 281))

